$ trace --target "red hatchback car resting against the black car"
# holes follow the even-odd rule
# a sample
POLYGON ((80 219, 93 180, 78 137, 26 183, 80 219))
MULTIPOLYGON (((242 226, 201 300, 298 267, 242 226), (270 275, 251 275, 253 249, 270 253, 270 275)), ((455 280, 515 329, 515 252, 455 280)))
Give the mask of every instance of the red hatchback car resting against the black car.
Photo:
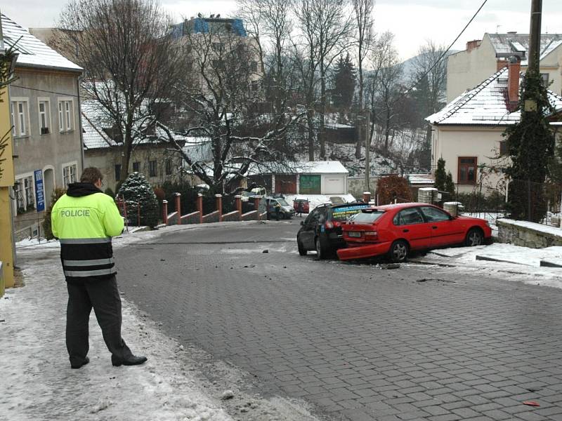
POLYGON ((427 203, 399 203, 366 208, 343 225, 346 248, 340 260, 388 255, 404 262, 410 250, 463 244, 479 246, 492 236, 488 221, 452 216, 427 203))

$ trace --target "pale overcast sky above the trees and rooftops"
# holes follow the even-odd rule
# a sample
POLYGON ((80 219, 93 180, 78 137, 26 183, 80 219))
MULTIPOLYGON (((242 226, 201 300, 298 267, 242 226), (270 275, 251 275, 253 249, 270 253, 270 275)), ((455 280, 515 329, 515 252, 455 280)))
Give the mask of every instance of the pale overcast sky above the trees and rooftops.
MULTIPOLYGON (((448 46, 469 22, 483 0, 376 0, 377 32, 396 34, 396 46, 403 59, 416 55, 428 39, 448 46)), ((23 27, 51 27, 67 0, 1 1, 2 13, 23 27)), ((234 0, 161 0, 177 22, 197 13, 233 15, 234 0)), ((528 34, 531 0, 488 0, 453 49, 462 50, 466 41, 481 39, 485 32, 517 31, 528 34)), ((562 1, 542 1, 542 32, 562 33, 562 1)))

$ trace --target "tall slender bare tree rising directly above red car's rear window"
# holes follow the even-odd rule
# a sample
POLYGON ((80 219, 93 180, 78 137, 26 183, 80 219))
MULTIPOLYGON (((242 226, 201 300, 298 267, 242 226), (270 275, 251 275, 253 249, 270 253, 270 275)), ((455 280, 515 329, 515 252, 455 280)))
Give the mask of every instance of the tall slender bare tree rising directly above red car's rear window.
MULTIPOLYGON (((358 112, 363 115, 363 91, 365 89, 365 80, 363 78, 363 63, 367 59, 367 55, 372 51, 375 34, 374 21, 372 18, 374 0, 351 0, 353 11, 355 12, 355 25, 357 26, 356 43, 357 43, 357 63, 359 73, 359 101, 358 112)), ((364 129, 360 126, 357 144, 355 145, 355 158, 361 156, 361 145, 363 142, 364 129)))

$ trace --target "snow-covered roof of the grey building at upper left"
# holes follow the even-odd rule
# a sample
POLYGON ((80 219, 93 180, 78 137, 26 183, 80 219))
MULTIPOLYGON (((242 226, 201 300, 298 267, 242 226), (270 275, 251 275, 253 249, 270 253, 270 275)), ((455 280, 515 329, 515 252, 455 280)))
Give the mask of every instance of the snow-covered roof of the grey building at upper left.
POLYGON ((4 44, 6 48, 15 45, 15 49, 19 53, 17 66, 70 70, 71 72, 83 70, 30 34, 27 29, 20 27, 4 13, 0 15, 4 44))

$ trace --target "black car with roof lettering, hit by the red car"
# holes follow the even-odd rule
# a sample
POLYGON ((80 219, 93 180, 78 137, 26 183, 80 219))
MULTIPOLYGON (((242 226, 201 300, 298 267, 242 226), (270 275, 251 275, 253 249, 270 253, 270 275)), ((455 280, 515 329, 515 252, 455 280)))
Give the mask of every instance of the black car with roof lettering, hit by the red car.
POLYGON ((301 222, 301 229, 296 234, 299 254, 303 256, 308 251, 315 250, 318 259, 334 255, 338 248, 346 245, 341 236, 341 224, 368 206, 363 202, 339 205, 325 203, 317 206, 308 214, 306 220, 301 222))

